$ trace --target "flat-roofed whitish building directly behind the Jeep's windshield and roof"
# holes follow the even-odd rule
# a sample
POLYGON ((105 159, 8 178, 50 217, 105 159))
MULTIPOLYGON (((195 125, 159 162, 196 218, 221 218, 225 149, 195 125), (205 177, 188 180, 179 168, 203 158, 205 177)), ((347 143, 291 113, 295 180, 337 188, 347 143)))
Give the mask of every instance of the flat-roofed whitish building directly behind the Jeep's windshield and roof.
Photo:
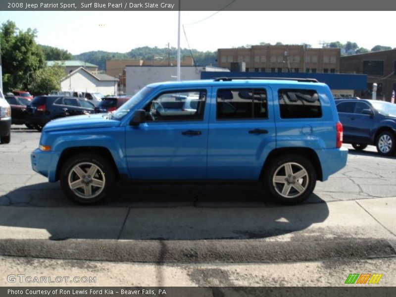
MULTIPOLYGON (((225 68, 212 66, 181 66, 181 80, 198 80, 201 71, 229 72, 225 68)), ((176 81, 175 66, 126 66, 126 94, 134 95, 151 83, 176 81)))

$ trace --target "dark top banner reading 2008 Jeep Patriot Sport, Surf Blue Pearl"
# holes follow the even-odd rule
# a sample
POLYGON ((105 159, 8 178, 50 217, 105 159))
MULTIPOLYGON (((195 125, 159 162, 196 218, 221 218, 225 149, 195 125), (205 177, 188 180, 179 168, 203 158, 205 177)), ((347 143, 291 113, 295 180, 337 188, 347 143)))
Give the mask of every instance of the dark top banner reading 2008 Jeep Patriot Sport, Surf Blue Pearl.
MULTIPOLYGON (((257 11, 257 10, 329 10, 329 11, 387 11, 396 9, 396 1, 377 0, 5 0, 0 1, 0 10, 103 10, 103 11, 177 11, 179 10, 230 10, 230 11, 257 11)), ((351 15, 350 21, 355 15, 351 15)), ((334 21, 337 20, 335 14, 334 21)), ((312 16, 312 26, 322 22, 320 15, 312 16)), ((327 20, 331 21, 331 20, 327 20)))

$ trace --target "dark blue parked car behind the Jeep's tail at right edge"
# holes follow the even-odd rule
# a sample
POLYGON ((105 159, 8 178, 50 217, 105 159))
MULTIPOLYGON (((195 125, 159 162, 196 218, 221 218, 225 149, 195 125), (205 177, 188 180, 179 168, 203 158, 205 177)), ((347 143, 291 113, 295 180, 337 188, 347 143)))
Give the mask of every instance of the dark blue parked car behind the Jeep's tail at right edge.
POLYGON ((396 104, 368 99, 345 99, 337 102, 344 126, 344 142, 356 150, 368 145, 382 155, 396 151, 396 104))

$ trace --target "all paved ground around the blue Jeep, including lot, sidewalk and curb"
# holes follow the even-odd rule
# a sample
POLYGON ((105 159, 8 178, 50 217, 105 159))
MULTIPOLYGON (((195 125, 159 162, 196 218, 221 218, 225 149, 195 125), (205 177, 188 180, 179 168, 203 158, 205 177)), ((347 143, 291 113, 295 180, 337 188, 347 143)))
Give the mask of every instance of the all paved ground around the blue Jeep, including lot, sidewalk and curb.
POLYGON ((31 169, 40 133, 11 133, 0 146, 1 286, 9 271, 71 267, 98 276, 97 286, 339 286, 348 271, 373 269, 396 286, 396 156, 374 147, 346 145, 347 166, 302 205, 243 185, 135 185, 84 207, 31 169))

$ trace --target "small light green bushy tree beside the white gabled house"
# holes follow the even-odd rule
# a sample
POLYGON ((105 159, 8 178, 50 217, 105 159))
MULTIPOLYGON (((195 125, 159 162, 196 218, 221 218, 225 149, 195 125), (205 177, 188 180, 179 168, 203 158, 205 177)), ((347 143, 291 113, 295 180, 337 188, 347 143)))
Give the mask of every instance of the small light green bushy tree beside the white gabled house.
POLYGON ((64 68, 58 64, 42 68, 35 72, 29 90, 34 95, 46 95, 51 91, 59 91, 60 80, 64 76, 64 68))

